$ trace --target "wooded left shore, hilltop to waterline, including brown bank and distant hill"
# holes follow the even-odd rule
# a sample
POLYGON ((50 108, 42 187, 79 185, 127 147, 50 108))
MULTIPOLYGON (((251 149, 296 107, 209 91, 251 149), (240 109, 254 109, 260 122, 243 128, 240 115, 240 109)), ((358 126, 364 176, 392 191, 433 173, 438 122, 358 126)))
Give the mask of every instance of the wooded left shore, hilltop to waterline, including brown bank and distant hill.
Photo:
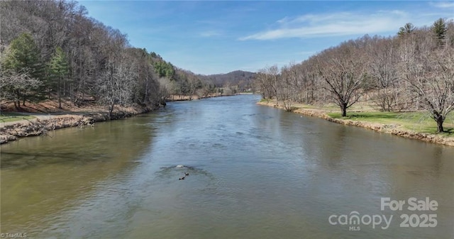
POLYGON ((75 1, 0 1, 0 16, 0 143, 253 88, 255 72, 184 70, 75 1))

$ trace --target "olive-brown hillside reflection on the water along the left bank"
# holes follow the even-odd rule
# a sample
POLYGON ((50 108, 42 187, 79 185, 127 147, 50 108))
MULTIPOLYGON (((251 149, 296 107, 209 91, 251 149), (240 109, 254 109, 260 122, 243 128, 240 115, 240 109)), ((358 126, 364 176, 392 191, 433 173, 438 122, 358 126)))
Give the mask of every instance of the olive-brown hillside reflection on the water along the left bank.
POLYGON ((131 121, 57 130, 52 137, 1 145, 1 231, 33 235, 48 216, 133 166, 131 158, 146 149, 143 145, 151 146, 153 129, 131 121))

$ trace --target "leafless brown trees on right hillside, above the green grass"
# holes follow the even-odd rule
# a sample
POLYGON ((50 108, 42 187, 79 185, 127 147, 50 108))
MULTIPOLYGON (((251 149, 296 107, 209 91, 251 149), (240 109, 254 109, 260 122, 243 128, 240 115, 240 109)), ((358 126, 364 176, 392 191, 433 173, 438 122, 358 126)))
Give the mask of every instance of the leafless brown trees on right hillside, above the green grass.
POLYGON ((364 35, 316 53, 299 64, 259 70, 255 84, 262 98, 287 111, 294 102, 333 102, 342 116, 358 101, 381 111, 426 109, 438 132, 454 111, 454 22, 411 23, 390 37, 364 35))

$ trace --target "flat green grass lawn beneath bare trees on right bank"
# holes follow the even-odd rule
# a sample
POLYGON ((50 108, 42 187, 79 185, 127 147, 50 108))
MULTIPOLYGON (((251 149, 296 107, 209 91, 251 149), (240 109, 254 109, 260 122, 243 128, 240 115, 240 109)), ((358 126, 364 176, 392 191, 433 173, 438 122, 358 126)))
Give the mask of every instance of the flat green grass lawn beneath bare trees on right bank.
MULTIPOLYGON (((427 112, 347 112, 346 117, 341 113, 328 113, 332 118, 350 119, 353 121, 365 121, 371 123, 397 124, 402 128, 421 133, 436 133, 436 122, 427 112)), ((443 135, 454 137, 454 113, 450 113, 443 123, 446 132, 443 135)))

